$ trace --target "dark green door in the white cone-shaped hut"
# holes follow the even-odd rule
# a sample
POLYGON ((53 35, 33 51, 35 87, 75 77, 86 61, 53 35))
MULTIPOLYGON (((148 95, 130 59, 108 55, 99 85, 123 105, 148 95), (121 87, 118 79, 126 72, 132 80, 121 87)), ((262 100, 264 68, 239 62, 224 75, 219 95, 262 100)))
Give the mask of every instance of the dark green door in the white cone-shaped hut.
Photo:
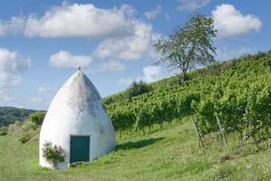
POLYGON ((70 163, 89 161, 89 136, 70 136, 70 163))

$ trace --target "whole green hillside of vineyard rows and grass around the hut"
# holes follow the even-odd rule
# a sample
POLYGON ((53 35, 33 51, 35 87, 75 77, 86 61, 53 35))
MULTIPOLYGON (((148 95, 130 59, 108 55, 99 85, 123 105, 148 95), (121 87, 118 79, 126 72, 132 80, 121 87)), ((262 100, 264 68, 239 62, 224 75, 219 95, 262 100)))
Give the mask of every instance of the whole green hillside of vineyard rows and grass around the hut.
POLYGON ((42 168, 38 137, 25 144, 0 137, 0 181, 270 180, 271 52, 219 62, 188 77, 185 87, 173 76, 130 99, 126 91, 105 98, 117 149, 89 164, 42 168))

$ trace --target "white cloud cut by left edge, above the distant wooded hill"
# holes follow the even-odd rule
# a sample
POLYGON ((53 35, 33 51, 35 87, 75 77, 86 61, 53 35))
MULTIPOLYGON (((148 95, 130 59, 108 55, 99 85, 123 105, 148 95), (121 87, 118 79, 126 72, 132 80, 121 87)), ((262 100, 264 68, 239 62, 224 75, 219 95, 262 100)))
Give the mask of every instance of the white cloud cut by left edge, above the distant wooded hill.
POLYGON ((31 60, 18 52, 0 48, 0 100, 10 101, 8 90, 22 82, 21 73, 31 66, 31 60))

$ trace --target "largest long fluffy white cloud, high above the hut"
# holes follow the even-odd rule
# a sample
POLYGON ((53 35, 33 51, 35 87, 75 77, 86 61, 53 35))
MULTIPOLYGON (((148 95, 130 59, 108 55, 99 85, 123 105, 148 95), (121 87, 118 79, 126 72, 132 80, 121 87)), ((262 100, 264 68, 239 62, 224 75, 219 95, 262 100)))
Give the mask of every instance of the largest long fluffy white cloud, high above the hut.
POLYGON ((30 15, 25 35, 42 37, 105 38, 133 33, 131 16, 135 10, 129 5, 101 9, 91 4, 54 6, 42 17, 30 15))

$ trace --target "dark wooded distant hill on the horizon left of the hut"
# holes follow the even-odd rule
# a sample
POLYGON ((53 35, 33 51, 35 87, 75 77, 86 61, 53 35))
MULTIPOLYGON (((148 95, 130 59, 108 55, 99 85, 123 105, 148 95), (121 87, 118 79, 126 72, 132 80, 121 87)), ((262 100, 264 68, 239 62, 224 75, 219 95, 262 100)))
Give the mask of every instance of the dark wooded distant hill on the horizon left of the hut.
POLYGON ((22 121, 37 110, 26 110, 14 107, 0 107, 0 127, 8 126, 16 120, 22 121))

